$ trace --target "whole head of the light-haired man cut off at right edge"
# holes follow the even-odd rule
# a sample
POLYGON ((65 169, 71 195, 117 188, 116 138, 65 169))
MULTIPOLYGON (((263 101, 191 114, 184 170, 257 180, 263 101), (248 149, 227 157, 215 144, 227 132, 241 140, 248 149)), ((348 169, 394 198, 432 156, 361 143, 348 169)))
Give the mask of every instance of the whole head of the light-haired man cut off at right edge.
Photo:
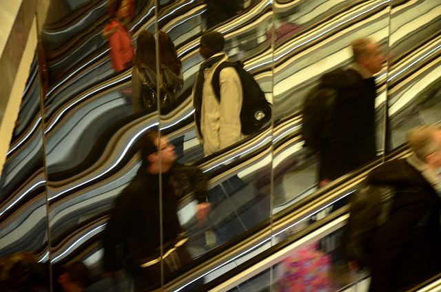
POLYGON ((431 169, 441 167, 441 128, 422 125, 410 130, 409 146, 431 169))

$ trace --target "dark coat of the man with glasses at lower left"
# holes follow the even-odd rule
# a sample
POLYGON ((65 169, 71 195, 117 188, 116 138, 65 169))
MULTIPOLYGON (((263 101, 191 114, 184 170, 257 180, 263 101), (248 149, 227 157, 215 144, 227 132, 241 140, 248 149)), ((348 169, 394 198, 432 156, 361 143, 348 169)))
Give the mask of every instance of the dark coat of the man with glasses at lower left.
MULTIPOLYGON (((132 182, 116 198, 103 234, 104 265, 107 271, 118 271, 133 265, 123 262, 134 253, 143 258, 152 255, 160 245, 159 178, 141 165, 132 182), (123 249, 119 249, 119 246, 123 249), (122 254, 121 254, 122 253, 122 254)), ((174 165, 163 174, 163 242, 176 240, 181 233, 178 200, 192 193, 205 202, 207 180, 197 167, 174 165)), ((132 257, 133 258, 133 257, 132 257)), ((132 260, 130 258, 130 260, 132 260)), ((135 263, 136 265, 136 263, 135 263)))

